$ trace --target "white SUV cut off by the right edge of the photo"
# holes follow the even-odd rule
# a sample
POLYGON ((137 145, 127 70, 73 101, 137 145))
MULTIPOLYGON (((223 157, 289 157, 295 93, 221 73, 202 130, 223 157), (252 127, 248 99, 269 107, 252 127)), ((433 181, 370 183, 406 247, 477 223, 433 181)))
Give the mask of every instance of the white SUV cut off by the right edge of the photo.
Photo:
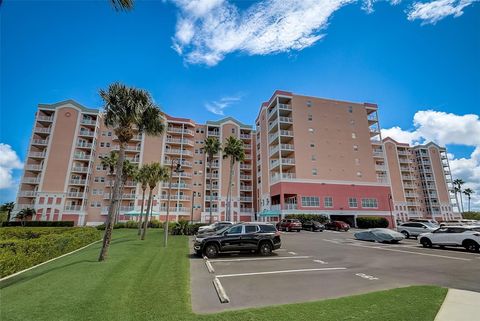
POLYGON ((469 252, 480 249, 480 226, 445 226, 419 235, 423 247, 461 246, 469 252))

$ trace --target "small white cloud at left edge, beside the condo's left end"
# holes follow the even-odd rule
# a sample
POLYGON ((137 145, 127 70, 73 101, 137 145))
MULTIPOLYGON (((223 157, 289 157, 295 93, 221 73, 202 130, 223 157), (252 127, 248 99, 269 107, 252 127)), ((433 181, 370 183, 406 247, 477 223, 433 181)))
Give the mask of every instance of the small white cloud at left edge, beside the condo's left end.
POLYGON ((13 178, 13 171, 22 168, 23 164, 12 147, 0 143, 0 190, 3 195, 13 195, 17 190, 18 182, 13 178))

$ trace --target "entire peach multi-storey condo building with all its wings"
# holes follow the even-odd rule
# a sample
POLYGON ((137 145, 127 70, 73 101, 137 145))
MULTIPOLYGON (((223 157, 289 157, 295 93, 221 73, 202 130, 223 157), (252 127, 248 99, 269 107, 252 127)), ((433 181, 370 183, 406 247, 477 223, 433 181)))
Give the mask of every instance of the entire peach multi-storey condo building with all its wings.
MULTIPOLYGON (((214 221, 226 218, 230 162, 220 152, 210 173, 203 147, 207 137, 230 136, 243 141, 246 155, 233 169, 234 221, 311 213, 355 226, 359 216, 393 224, 456 215, 445 148, 382 140, 375 104, 275 91, 261 104, 255 128, 232 117, 198 124, 166 115, 165 125, 160 136, 137 133, 125 154, 138 166, 181 164, 170 184, 153 191, 155 219, 165 220, 168 210, 171 220, 208 222, 210 209, 214 221)), ((101 157, 118 149, 100 110, 73 100, 40 104, 14 213, 28 207, 34 220, 105 222, 116 173, 101 157)), ((119 219, 138 219, 141 205, 141 187, 128 178, 119 219)))

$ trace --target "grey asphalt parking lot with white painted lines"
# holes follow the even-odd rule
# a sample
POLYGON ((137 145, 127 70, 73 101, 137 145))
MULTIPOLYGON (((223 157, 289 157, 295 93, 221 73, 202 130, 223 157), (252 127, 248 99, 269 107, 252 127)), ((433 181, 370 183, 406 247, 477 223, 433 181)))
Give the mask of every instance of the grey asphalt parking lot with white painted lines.
POLYGON ((362 242, 355 240, 353 233, 282 232, 281 249, 269 257, 225 254, 206 264, 192 255, 192 308, 198 313, 216 312, 415 284, 480 292, 480 254, 424 249, 414 239, 399 244, 362 242), (215 278, 228 303, 220 302, 215 278))

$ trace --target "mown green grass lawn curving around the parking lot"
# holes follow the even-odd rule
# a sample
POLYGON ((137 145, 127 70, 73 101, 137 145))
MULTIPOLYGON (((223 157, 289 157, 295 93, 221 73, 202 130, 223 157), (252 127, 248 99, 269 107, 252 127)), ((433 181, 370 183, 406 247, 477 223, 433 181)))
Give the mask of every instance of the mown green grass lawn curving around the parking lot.
POLYGON ((100 244, 0 284, 0 320, 433 320, 447 290, 415 286, 302 304, 193 314, 188 239, 146 241, 115 230, 106 262, 100 244))

